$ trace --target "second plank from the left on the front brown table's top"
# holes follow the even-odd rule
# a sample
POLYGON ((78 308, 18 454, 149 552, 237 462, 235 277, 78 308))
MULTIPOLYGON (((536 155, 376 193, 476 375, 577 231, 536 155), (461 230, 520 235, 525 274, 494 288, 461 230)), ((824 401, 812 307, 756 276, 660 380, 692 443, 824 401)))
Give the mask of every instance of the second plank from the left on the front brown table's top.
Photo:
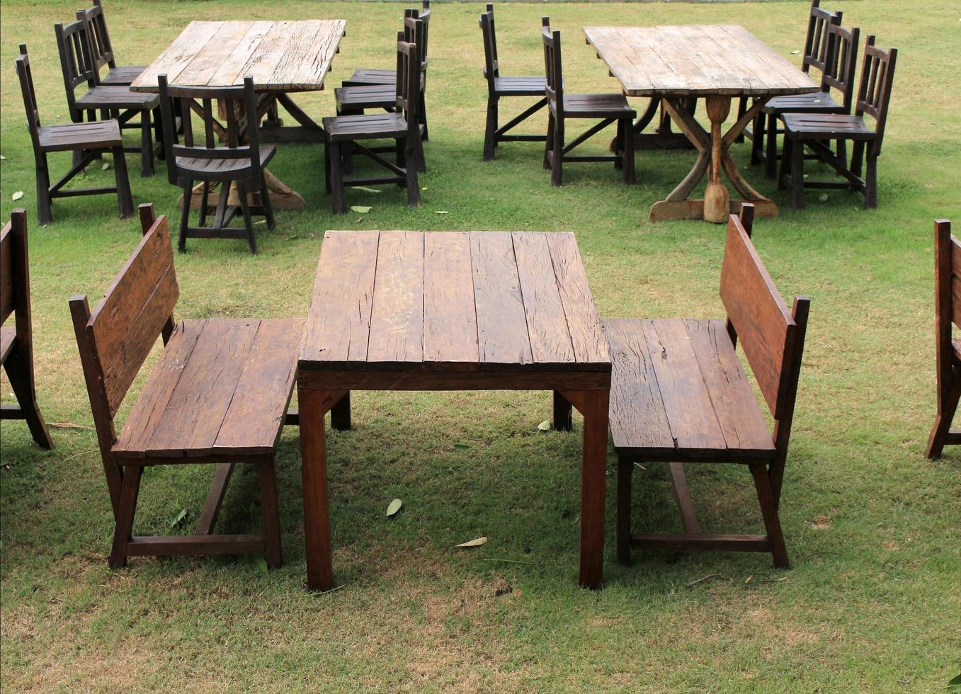
POLYGON ((367 363, 400 368, 424 360, 424 235, 380 234, 367 363))

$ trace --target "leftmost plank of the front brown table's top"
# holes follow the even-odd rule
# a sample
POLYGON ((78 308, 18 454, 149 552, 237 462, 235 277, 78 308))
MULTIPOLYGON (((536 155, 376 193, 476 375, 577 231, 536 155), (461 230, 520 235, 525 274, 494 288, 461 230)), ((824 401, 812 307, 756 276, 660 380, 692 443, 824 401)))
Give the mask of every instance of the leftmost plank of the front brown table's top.
POLYGON ((324 234, 300 368, 363 368, 377 268, 377 232, 324 234))

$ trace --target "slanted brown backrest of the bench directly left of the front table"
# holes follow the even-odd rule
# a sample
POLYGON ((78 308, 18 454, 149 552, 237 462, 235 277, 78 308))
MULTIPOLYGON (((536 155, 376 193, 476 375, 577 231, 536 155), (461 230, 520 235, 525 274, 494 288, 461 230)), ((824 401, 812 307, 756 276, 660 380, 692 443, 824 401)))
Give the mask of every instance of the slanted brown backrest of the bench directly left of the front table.
POLYGON ((157 338, 169 336, 180 295, 166 217, 141 206, 140 220, 143 238, 92 313, 86 296, 70 299, 90 405, 111 422, 157 338))

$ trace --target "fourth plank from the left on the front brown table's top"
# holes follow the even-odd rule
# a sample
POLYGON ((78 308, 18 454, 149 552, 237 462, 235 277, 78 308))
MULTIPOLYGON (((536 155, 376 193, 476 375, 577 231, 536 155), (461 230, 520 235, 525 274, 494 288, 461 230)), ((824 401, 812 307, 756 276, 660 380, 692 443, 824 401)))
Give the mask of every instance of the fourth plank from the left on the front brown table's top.
POLYGON ((471 232, 481 368, 530 367, 528 321, 509 234, 471 232))

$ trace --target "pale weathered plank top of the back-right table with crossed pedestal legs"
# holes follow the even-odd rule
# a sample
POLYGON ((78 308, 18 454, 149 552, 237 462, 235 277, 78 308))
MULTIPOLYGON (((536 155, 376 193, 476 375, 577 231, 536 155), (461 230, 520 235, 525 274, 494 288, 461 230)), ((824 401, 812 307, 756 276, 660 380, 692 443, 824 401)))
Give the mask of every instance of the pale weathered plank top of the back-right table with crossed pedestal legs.
POLYGON ((628 96, 777 96, 820 87, 735 24, 584 27, 628 96))

